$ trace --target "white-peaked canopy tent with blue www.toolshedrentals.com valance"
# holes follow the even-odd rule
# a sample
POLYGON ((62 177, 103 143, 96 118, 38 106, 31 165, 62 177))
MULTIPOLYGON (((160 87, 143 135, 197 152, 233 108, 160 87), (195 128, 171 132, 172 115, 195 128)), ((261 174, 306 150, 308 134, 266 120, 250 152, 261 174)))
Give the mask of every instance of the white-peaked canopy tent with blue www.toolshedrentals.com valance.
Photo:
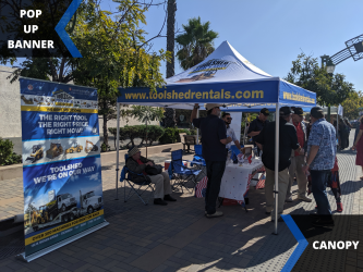
MULTIPOLYGON (((228 41, 223 41, 207 59, 176 76, 168 78, 164 88, 153 92, 148 88, 120 88, 120 103, 152 107, 167 107, 192 110, 194 103, 220 103, 229 108, 261 107, 274 104, 275 111, 281 106, 314 107, 316 94, 274 77, 243 58, 228 41)), ((204 107, 201 107, 203 110, 204 107)), ((118 115, 118 129, 119 122, 118 115)), ((276 119, 279 127, 279 119, 276 119)), ((117 135, 119 138, 119 135, 117 135)), ((279 129, 276 129, 276 150, 279 150, 279 129)), ((278 191, 279 152, 275 156, 275 190, 278 191)), ((117 144, 117 189, 119 178, 119 141, 117 144)), ((278 195, 275 197, 277 207, 278 195)), ((277 209, 276 211, 276 219, 277 209)), ((277 220, 275 221, 277 234, 277 220)))

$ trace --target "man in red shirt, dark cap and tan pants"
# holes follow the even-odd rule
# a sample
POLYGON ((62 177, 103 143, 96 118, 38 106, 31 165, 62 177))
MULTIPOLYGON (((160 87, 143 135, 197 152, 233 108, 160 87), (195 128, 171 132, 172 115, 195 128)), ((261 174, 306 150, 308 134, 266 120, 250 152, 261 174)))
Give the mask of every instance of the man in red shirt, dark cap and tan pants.
MULTIPOLYGON (((304 111, 302 108, 292 108, 292 123, 297 128, 298 141, 301 147, 303 147, 303 151, 306 150, 307 147, 307 139, 306 139, 306 126, 303 122, 304 119, 304 111)), ((293 183, 293 177, 297 175, 298 182, 298 199, 306 202, 311 202, 312 199, 306 197, 306 175, 302 171, 302 166, 305 164, 305 156, 300 154, 298 151, 291 152, 291 164, 289 166, 289 186, 286 195, 286 201, 292 202, 292 191, 291 186, 293 183)))

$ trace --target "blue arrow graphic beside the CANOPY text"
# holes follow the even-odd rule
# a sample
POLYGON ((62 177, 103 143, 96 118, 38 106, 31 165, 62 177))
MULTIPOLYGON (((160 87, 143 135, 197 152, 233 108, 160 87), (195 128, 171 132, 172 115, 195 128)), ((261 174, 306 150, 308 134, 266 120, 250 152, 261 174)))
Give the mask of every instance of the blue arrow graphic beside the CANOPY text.
POLYGON ((285 223, 290 228, 291 233, 298 240, 298 246, 295 250, 293 250, 292 255, 290 256, 289 260, 285 263, 281 272, 289 272, 293 269, 293 265, 295 265, 297 261, 299 260, 300 256, 304 252, 305 248, 307 247, 307 240, 305 239, 304 235, 301 233, 300 228, 291 218, 291 215, 281 215, 285 223))

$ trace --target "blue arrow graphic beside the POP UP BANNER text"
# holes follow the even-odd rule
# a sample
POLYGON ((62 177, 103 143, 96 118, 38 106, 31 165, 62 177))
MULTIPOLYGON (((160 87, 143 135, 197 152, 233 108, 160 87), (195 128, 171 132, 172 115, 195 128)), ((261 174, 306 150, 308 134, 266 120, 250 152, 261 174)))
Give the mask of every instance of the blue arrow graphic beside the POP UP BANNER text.
POLYGON ((66 49, 71 52, 73 58, 82 58, 81 52, 76 48, 76 46, 73 44, 70 35, 65 32, 65 26, 71 21, 73 14, 78 9, 80 4, 83 0, 73 0, 70 7, 68 7, 65 13, 63 14, 62 18, 58 22, 58 25, 56 26, 56 32, 65 45, 66 49))

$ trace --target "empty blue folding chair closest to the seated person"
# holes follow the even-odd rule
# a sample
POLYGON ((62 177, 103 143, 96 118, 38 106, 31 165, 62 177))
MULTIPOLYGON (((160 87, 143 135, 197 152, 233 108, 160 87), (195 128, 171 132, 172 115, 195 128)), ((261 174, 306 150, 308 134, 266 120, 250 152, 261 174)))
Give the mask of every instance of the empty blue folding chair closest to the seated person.
MULTIPOLYGON (((195 162, 194 162, 195 163, 195 162)), ((171 151, 171 163, 168 169, 169 176, 171 175, 172 180, 174 180, 174 185, 180 186, 182 193, 183 187, 191 193, 190 188, 186 187, 189 182, 193 182, 192 191, 195 188, 197 182, 196 176, 201 173, 202 170, 189 169, 183 165, 183 150, 179 149, 176 151, 171 151)))

